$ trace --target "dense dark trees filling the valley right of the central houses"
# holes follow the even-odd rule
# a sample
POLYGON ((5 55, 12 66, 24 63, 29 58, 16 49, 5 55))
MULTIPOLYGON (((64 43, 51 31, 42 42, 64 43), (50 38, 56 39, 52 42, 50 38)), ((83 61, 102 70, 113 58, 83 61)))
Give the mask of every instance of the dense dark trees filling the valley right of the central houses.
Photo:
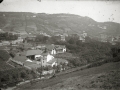
POLYGON ((84 43, 78 39, 69 40, 65 43, 67 50, 77 57, 68 59, 72 66, 81 66, 112 58, 112 45, 109 43, 102 43, 90 38, 86 39, 84 43))

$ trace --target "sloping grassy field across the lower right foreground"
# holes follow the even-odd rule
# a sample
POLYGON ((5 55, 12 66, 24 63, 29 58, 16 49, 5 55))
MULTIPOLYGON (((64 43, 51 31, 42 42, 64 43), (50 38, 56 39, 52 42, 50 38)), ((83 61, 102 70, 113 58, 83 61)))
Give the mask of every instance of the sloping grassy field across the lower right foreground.
POLYGON ((56 76, 19 90, 120 90, 120 62, 56 76))

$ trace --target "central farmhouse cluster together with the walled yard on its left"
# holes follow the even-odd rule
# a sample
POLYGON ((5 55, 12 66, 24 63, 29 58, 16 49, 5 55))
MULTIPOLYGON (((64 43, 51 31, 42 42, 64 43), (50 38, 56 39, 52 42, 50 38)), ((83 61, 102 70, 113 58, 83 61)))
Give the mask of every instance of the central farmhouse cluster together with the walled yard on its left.
POLYGON ((45 45, 37 46, 36 49, 27 50, 16 54, 13 61, 17 64, 25 66, 29 69, 37 69, 39 67, 57 66, 61 63, 68 64, 68 61, 61 58, 55 58, 56 54, 65 53, 64 45, 45 45))

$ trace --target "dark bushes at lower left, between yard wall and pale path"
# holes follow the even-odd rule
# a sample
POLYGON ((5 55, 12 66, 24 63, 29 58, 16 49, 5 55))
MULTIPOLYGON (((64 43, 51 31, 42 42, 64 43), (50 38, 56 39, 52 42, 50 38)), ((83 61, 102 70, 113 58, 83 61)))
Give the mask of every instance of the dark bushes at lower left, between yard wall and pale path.
POLYGON ((0 87, 14 86, 24 80, 36 78, 34 71, 25 68, 13 68, 5 71, 0 71, 0 87))

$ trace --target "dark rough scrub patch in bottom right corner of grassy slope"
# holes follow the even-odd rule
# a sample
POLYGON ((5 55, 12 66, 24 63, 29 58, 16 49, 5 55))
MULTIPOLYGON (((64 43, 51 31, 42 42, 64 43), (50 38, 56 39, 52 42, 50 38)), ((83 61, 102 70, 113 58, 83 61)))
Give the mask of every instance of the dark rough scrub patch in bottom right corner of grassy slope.
POLYGON ((92 80, 87 88, 100 88, 104 90, 119 90, 120 89, 120 70, 113 70, 109 73, 98 76, 92 80))

